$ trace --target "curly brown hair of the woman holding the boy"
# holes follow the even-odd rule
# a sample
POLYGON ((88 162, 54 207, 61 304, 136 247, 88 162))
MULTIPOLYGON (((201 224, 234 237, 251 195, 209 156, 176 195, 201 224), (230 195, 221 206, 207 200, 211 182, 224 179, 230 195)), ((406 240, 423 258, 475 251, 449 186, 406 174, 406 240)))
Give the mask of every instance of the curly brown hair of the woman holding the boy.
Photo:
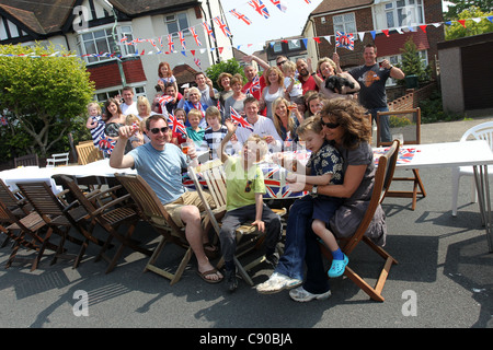
POLYGON ((329 100, 320 112, 320 117, 336 122, 344 129, 342 145, 346 149, 355 149, 360 142, 371 142, 369 115, 353 100, 329 100))

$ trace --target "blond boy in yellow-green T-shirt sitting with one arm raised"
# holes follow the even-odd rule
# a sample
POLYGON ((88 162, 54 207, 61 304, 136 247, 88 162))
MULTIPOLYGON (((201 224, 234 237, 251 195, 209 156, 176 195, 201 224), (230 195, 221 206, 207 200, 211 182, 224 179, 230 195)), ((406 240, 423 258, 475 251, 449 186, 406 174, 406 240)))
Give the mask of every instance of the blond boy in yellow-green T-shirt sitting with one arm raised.
POLYGON ((259 231, 266 230, 266 260, 271 265, 277 265, 277 243, 280 240, 280 218, 268 208, 263 200, 266 191, 264 175, 259 162, 267 153, 267 143, 257 135, 249 137, 243 143, 240 156, 229 156, 225 152, 225 145, 231 139, 237 127, 230 121, 225 121, 228 133, 222 139, 218 149, 218 156, 225 163, 226 186, 226 214, 219 233, 222 257, 225 258, 226 281, 230 292, 238 288, 237 269, 233 261, 237 250, 234 231, 245 222, 252 222, 259 231), (220 152, 220 153, 219 153, 220 152))

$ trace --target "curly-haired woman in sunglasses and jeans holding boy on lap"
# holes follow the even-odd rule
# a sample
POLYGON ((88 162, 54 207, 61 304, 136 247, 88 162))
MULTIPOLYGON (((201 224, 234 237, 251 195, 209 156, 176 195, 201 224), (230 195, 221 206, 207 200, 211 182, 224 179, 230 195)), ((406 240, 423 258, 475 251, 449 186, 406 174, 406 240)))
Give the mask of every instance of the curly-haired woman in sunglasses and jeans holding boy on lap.
MULTIPOLYGON (((359 225, 374 187, 371 126, 365 116, 365 109, 356 102, 344 98, 330 100, 320 116, 325 139, 342 155, 344 177, 340 185, 307 186, 312 194, 343 198, 341 207, 330 219, 328 229, 335 237, 348 237, 359 225)), ((301 168, 300 164, 298 168, 301 168)), ((294 185, 293 188, 299 190, 302 186, 303 184, 294 185)), ((308 302, 330 296, 318 237, 312 230, 312 201, 295 201, 289 210, 285 253, 271 278, 256 287, 260 293, 276 293, 298 287, 289 292, 295 301, 308 302), (302 284, 303 261, 307 265, 307 277, 302 284)), ((366 235, 377 244, 385 245, 386 234, 385 213, 379 207, 366 235)))

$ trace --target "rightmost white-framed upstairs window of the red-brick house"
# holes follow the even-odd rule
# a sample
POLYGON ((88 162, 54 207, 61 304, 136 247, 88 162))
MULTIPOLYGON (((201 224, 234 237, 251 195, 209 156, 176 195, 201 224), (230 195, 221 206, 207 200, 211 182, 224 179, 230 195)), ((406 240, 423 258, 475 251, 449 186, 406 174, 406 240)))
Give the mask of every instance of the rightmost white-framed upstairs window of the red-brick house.
POLYGON ((385 5, 387 27, 424 23, 423 0, 395 0, 385 5))

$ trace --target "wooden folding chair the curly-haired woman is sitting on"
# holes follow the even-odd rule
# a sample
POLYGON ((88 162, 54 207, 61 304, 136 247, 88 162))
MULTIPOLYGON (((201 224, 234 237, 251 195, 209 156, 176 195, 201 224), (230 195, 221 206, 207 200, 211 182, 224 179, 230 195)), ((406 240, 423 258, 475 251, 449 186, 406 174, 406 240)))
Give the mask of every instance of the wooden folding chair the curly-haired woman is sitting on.
MULTIPOLYGON (((346 266, 344 275, 349 278, 356 285, 358 285, 365 293, 367 293, 372 300, 382 302, 385 299, 381 295, 381 291, 387 281, 387 277, 389 275, 390 268, 393 264, 398 264, 398 261, 383 248, 377 246, 371 240, 365 236, 365 233, 368 226, 374 219, 374 214, 378 206, 383 200, 386 192, 392 182, 393 171, 395 168, 397 159, 399 155, 399 141, 393 141, 392 145, 389 150, 379 158, 378 160, 378 168, 375 174, 375 184, 374 191, 371 194, 371 199, 368 206, 368 209, 363 217, 363 220, 354 233, 354 235, 346 240, 340 240, 341 249, 348 257, 354 248, 359 244, 359 242, 366 243, 374 252, 376 252, 380 257, 385 259, 383 268, 381 269, 380 276, 377 280, 375 287, 368 284, 360 276, 358 276, 349 265, 353 265, 349 257, 349 265, 346 266)), ((329 259, 332 260, 332 254, 329 248, 320 243, 320 247, 322 249, 322 254, 329 259)))

